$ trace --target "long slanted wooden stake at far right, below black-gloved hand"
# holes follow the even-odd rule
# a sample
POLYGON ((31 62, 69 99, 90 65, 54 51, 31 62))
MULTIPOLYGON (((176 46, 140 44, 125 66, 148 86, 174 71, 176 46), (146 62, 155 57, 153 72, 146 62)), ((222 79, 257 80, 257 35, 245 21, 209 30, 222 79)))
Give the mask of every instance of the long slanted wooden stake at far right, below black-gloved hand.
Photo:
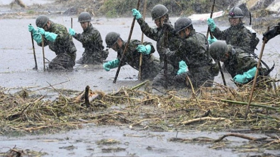
MULTIPOLYGON (((267 27, 267 31, 269 31, 269 27, 267 27)), ((247 105, 247 108, 246 108, 246 114, 245 114, 245 117, 244 117, 245 119, 247 119, 247 115, 248 115, 249 110, 250 110, 250 105, 251 105, 251 102, 252 102, 252 97, 253 97, 253 93, 254 93, 254 90, 255 90, 257 77, 258 77, 258 74, 259 74, 260 62, 262 60, 262 53, 263 53, 263 50, 265 49, 265 43, 266 42, 267 42, 267 38, 265 37, 264 40, 262 41, 262 49, 260 50, 260 56, 259 56, 259 60, 258 60, 257 70, 256 70, 256 73, 255 73, 253 86, 252 86, 252 89, 251 89, 251 94, 250 94, 250 97, 249 97, 249 102, 248 102, 248 105, 247 105)))

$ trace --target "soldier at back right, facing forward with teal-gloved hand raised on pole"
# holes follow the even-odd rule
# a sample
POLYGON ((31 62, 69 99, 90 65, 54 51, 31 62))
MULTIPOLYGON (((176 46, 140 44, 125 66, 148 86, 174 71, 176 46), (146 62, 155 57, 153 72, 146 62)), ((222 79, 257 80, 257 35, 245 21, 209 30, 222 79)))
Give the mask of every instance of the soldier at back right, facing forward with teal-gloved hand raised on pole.
POLYGON ((218 40, 225 40, 227 44, 232 46, 242 47, 243 49, 247 49, 251 52, 254 52, 255 47, 260 41, 256 37, 256 33, 250 27, 245 27, 243 24, 243 12, 238 7, 233 7, 230 9, 228 14, 228 20, 230 23, 230 27, 225 29, 224 31, 220 31, 213 19, 208 18, 207 24, 213 36, 216 38, 211 39, 209 37, 209 44, 218 40), (250 29, 250 30, 249 30, 250 29))

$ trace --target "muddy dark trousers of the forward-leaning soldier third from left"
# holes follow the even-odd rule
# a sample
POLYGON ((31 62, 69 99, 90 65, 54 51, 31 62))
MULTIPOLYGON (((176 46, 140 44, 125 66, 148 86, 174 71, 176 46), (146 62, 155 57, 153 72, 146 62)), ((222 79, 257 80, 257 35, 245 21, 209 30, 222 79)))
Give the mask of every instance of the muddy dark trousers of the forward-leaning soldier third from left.
POLYGON ((153 56, 149 60, 145 61, 144 64, 145 65, 142 65, 143 69, 141 71, 141 79, 143 80, 154 79, 162 69, 162 67, 160 66, 160 60, 153 56))

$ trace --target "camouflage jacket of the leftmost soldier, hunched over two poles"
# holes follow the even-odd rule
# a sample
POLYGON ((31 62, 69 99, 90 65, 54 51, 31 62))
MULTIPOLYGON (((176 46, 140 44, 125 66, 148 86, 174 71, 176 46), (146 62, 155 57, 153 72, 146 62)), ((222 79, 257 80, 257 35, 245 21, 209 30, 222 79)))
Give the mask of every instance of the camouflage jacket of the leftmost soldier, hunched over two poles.
MULTIPOLYGON (((54 42, 48 41, 44 38, 44 46, 48 45, 56 55, 66 54, 75 62, 77 49, 67 28, 61 24, 51 22, 48 31, 57 34, 57 37, 54 42)), ((38 45, 42 46, 42 43, 39 43, 38 45)))

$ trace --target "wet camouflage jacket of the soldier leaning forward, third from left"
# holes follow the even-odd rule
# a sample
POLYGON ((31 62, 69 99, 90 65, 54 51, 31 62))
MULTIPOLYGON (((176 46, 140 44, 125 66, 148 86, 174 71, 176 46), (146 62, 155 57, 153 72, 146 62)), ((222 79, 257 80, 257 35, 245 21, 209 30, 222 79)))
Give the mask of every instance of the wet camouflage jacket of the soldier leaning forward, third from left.
MULTIPOLYGON (((127 50, 125 52, 124 60, 122 61, 122 66, 126 63, 129 64, 131 67, 133 67, 136 70, 139 70, 139 61, 140 61, 140 53, 137 52, 136 48, 138 45, 140 45, 141 42, 139 40, 131 40, 129 42, 129 45, 127 47, 127 50)), ((152 53, 155 52, 155 48, 153 47, 153 44, 150 42, 143 42, 143 45, 150 45, 151 46, 151 52, 148 55, 142 55, 142 69, 146 69, 148 67, 148 63, 150 59, 152 58, 152 53)), ((122 42, 122 48, 118 50, 118 56, 117 58, 120 60, 122 57, 122 53, 125 49, 126 42, 122 42)))

